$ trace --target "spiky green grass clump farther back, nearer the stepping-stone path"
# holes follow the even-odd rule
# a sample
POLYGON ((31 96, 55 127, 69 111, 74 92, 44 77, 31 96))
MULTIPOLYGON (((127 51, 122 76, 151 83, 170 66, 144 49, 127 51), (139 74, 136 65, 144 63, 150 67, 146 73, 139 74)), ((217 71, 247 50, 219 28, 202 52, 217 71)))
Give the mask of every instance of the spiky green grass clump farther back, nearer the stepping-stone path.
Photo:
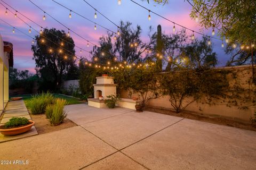
POLYGON ((45 113, 47 105, 54 103, 54 96, 51 92, 34 95, 28 103, 28 107, 32 114, 45 113))

